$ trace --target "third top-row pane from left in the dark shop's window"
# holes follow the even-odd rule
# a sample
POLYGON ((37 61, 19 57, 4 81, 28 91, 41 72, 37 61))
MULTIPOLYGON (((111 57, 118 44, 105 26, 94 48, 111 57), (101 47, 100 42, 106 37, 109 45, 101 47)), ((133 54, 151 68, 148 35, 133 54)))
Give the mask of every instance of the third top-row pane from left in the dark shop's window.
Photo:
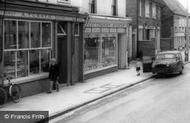
POLYGON ((31 23, 31 47, 32 48, 40 47, 40 23, 39 22, 31 23))

